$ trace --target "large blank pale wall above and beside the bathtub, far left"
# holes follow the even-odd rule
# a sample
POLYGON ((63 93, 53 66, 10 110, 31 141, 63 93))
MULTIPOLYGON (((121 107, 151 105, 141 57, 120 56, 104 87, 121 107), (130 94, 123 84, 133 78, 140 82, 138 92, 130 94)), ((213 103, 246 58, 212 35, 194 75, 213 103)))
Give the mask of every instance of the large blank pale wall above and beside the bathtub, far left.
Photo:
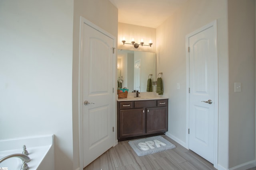
POLYGON ((0 1, 0 139, 54 134, 56 170, 73 168, 73 3, 0 1))

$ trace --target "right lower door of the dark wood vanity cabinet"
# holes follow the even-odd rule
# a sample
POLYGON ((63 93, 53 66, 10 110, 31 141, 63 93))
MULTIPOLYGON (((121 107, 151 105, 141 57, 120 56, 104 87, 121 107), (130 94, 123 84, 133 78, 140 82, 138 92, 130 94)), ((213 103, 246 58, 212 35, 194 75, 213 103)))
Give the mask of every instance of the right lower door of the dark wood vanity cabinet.
POLYGON ((167 107, 146 108, 146 133, 167 131, 167 107))

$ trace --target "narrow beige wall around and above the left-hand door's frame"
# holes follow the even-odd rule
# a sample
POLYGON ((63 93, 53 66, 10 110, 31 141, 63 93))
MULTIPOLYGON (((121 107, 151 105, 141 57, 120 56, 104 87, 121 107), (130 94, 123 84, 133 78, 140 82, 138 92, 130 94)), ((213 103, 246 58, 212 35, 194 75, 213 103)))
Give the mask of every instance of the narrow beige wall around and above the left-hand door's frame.
POLYGON ((79 167, 78 141, 78 57, 80 16, 101 27, 117 38, 118 10, 108 0, 75 0, 74 33, 73 33, 73 77, 72 77, 72 110, 73 110, 73 152, 74 169, 79 167))

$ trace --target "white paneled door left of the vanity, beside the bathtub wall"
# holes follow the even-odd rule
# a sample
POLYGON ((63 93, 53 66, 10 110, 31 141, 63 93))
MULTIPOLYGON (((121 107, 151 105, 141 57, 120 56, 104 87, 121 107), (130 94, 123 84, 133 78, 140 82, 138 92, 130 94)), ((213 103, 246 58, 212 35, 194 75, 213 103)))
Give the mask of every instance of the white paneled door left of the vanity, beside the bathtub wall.
POLYGON ((114 40, 84 23, 82 30, 83 166, 113 146, 114 40))

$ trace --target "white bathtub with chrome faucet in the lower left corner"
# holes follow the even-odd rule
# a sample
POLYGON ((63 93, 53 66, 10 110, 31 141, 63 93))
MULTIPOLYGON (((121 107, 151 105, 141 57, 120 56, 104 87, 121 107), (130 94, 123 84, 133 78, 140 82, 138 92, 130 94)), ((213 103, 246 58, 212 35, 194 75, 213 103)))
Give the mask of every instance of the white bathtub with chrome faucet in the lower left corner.
MULTIPOLYGON (((29 153, 29 170, 54 170, 54 135, 40 135, 0 140, 0 159, 10 154, 22 153, 23 145, 29 153)), ((0 168, 20 170, 22 160, 9 158, 0 163, 0 168)))

